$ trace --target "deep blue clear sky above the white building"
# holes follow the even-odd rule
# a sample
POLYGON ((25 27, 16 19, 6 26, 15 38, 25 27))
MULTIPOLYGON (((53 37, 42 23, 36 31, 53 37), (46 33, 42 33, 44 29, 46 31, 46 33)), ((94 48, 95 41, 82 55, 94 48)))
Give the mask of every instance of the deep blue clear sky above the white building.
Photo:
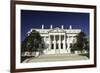
POLYGON ((44 25, 45 29, 64 26, 69 29, 81 29, 89 37, 89 13, 79 12, 55 12, 55 11, 34 11, 21 10, 21 41, 27 36, 31 28, 40 28, 44 25))

